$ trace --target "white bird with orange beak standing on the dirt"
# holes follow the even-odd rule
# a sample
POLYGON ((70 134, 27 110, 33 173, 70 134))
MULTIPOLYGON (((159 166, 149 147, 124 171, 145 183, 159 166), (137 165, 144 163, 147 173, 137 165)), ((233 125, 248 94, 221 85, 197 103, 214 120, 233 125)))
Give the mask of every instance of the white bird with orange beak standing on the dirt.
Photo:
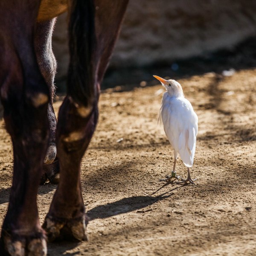
POLYGON ((198 134, 198 116, 191 103, 185 99, 181 85, 173 80, 165 80, 159 76, 158 79, 166 92, 163 94, 162 104, 159 112, 159 118, 163 122, 163 128, 166 136, 174 149, 174 166, 172 176, 166 176, 165 181, 170 181, 176 176, 175 165, 177 154, 179 153, 181 160, 187 167, 188 177, 177 183, 192 183, 189 168, 193 165, 195 156, 196 136, 198 134))

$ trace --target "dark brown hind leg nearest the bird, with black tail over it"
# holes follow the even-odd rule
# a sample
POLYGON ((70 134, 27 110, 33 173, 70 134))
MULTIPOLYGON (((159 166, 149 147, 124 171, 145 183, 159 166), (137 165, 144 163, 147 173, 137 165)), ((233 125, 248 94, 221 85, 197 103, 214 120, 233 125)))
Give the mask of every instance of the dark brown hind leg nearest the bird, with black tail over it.
POLYGON ((127 2, 100 0, 95 1, 97 8, 94 8, 89 5, 90 1, 77 1, 73 6, 68 90, 57 126, 61 177, 43 225, 50 240, 65 237, 86 239, 86 215, 80 181, 81 158, 96 127, 99 83, 112 53, 127 2), (90 15, 95 9, 94 26, 94 17, 90 15), (78 21, 74 15, 87 20, 78 21))

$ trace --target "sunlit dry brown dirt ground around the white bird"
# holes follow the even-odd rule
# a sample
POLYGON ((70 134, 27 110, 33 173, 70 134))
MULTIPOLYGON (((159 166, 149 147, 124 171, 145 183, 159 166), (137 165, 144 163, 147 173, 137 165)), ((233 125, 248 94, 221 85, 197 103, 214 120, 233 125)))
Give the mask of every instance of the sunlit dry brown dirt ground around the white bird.
MULTIPOLYGON (((179 82, 199 119, 196 185, 159 181, 173 163, 157 125, 161 86, 105 90, 99 125, 81 165, 89 242, 52 243, 48 255, 256 255, 256 69, 179 82)), ((0 124, 2 224, 13 160, 0 124)), ((186 176, 181 160, 177 173, 186 176)), ((41 222, 55 189, 49 183, 39 188, 41 222)))

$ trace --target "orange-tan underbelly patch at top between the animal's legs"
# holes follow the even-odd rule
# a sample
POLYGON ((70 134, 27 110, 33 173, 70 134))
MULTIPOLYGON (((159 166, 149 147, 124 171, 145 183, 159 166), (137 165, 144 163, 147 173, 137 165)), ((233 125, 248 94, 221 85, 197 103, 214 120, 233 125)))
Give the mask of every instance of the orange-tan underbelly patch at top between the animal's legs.
POLYGON ((50 20, 67 11, 67 0, 41 0, 37 21, 50 20))

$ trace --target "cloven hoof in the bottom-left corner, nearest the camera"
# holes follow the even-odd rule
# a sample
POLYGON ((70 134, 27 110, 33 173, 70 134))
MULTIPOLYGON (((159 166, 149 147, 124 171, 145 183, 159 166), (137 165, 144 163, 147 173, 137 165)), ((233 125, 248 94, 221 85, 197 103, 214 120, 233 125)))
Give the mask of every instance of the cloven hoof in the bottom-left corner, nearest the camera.
POLYGON ((0 252, 3 256, 46 256, 47 243, 43 237, 35 238, 31 236, 12 237, 2 232, 0 252))

